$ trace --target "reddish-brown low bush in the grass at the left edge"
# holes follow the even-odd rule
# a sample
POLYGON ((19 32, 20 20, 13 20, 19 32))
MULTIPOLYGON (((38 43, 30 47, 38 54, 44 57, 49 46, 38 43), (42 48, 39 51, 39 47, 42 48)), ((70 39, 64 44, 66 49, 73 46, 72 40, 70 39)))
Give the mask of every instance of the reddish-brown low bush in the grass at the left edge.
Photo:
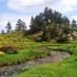
POLYGON ((0 50, 7 54, 18 54, 18 47, 16 46, 6 45, 6 46, 0 47, 0 50))

